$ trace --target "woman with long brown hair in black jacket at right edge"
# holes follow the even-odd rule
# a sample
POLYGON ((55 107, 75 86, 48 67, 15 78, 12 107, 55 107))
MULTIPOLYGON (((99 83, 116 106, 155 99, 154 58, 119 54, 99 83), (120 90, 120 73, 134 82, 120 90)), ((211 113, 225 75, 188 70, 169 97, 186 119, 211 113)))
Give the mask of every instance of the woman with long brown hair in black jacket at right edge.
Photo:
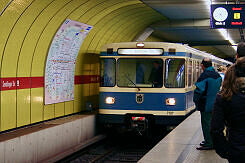
POLYGON ((238 58, 225 74, 214 104, 211 135, 219 156, 230 163, 245 162, 245 57, 238 58))

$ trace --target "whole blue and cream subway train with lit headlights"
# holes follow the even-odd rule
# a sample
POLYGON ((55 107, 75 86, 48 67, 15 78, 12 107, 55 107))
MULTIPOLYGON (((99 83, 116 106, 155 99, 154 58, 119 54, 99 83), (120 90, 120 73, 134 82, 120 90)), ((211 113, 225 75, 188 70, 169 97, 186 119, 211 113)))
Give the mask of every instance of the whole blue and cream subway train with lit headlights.
POLYGON ((184 44, 112 43, 102 47, 99 122, 144 131, 173 126, 195 109, 195 82, 204 57, 217 69, 232 64, 184 44))

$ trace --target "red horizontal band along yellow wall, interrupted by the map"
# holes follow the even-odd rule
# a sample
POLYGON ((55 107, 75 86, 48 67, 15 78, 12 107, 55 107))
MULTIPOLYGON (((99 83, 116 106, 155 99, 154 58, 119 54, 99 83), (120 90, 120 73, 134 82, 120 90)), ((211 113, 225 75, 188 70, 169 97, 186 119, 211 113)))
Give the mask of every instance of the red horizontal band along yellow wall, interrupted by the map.
MULTIPOLYGON (((78 75, 75 76, 75 84, 99 83, 99 78, 99 75, 78 75)), ((1 91, 44 87, 44 77, 0 78, 0 80, 1 91)))

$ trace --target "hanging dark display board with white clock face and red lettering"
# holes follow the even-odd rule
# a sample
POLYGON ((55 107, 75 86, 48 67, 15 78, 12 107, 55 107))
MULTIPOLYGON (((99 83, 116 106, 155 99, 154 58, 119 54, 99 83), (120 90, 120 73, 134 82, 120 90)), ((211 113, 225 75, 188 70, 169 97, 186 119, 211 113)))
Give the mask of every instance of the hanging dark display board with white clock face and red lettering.
POLYGON ((245 4, 211 5, 211 28, 244 28, 245 4))

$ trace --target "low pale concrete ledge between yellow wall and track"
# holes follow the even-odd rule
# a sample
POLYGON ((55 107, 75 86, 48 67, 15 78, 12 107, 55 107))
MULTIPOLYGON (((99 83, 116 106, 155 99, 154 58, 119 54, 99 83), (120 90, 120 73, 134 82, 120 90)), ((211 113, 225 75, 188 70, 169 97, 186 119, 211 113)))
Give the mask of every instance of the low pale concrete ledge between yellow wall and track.
POLYGON ((0 162, 56 162, 103 138, 95 117, 77 114, 0 134, 0 162))

